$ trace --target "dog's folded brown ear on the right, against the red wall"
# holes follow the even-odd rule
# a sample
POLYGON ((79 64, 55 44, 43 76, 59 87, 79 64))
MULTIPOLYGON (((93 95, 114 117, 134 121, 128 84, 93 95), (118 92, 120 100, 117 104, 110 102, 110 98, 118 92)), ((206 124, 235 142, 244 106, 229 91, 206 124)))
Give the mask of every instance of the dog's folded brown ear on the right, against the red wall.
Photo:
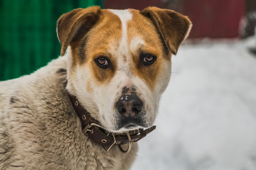
POLYGON ((140 13, 150 18, 159 30, 166 47, 176 55, 179 45, 187 38, 191 30, 192 24, 188 17, 169 9, 157 7, 144 8, 140 13))

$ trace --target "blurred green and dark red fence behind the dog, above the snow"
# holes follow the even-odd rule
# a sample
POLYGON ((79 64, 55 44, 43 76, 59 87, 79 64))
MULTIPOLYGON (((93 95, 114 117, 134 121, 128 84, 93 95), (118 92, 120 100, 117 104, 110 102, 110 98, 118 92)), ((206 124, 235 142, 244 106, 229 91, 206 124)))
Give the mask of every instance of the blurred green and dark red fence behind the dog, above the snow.
POLYGON ((246 38, 256 25, 255 0, 0 0, 0 81, 29 74, 58 57, 60 15, 93 5, 174 9, 193 21, 190 38, 246 38))

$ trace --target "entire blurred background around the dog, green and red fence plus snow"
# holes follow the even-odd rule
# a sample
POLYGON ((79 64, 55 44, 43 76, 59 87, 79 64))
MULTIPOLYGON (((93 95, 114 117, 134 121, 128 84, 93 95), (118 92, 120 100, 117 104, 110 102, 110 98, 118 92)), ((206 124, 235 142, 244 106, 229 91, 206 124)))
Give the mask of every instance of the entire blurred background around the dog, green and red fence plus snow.
POLYGON ((170 8, 193 22, 132 169, 255 170, 256 1, 0 0, 0 81, 57 58, 58 18, 92 5, 170 8))

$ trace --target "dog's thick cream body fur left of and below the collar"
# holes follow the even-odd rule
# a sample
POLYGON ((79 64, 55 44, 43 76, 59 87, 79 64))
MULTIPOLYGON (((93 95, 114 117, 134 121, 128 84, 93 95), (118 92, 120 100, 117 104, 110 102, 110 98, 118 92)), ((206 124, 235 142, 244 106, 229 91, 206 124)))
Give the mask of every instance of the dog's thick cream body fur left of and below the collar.
POLYGON ((82 132, 60 83, 65 79, 58 74, 37 77, 14 91, 1 91, 5 107, 0 132, 5 136, 0 135, 0 145, 6 152, 0 155, 0 169, 128 169, 124 160, 134 158, 135 152, 122 154, 117 148, 106 152, 82 132))

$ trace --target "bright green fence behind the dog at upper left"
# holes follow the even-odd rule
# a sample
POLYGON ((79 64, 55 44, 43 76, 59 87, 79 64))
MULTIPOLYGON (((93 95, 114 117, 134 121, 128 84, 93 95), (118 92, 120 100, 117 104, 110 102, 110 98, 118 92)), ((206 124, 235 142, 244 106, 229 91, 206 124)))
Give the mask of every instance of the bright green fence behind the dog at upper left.
POLYGON ((0 81, 43 67, 60 55, 56 23, 74 8, 103 0, 0 0, 0 81))

